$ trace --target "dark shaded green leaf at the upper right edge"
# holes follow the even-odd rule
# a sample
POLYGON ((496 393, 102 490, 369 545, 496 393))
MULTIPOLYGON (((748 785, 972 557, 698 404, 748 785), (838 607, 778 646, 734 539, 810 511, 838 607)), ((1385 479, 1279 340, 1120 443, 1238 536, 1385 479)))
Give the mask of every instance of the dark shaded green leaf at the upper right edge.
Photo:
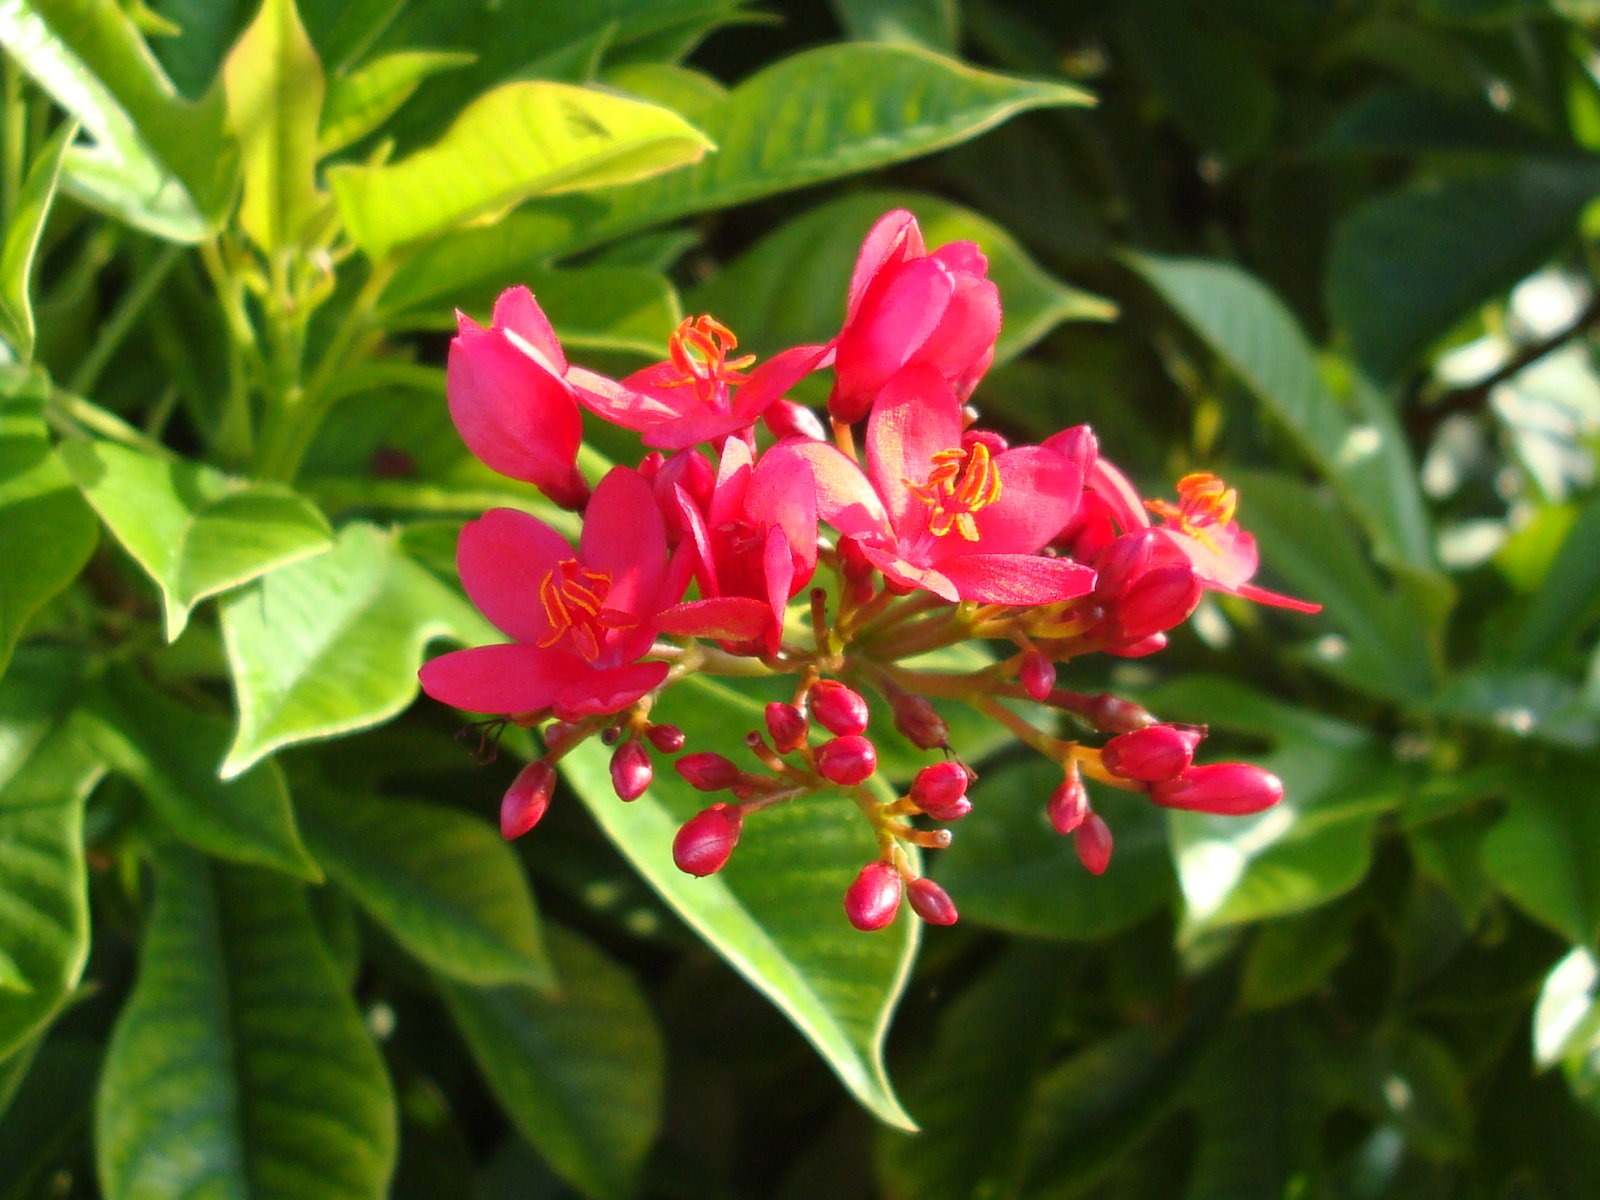
POLYGON ((1600 192, 1600 163, 1526 160, 1368 200, 1334 234, 1328 309, 1376 379, 1544 262, 1600 192))

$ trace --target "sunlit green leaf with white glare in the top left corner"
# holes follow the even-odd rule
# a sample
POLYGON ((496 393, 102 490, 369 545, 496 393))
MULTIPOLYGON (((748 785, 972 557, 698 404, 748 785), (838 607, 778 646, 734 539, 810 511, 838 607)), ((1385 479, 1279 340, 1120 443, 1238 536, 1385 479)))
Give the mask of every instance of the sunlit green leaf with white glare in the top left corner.
POLYGON ((0 0, 0 43, 94 139, 69 150, 69 190, 158 237, 221 222, 238 168, 222 94, 178 96, 118 5, 0 0))

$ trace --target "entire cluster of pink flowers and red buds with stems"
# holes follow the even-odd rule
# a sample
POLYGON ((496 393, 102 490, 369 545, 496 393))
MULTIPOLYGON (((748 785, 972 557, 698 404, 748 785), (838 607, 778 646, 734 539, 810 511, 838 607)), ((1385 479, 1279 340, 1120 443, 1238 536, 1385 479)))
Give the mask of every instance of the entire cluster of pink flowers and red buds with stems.
POLYGON ((582 514, 576 547, 517 509, 470 522, 461 581, 509 640, 421 672, 438 701, 541 731, 542 757, 506 794, 506 837, 544 814, 562 755, 600 738, 614 747, 624 802, 650 789, 653 754, 677 755, 694 789, 726 794, 678 830, 685 872, 720 870, 760 810, 835 792, 878 845, 845 894, 850 922, 883 928, 904 899, 949 925, 955 904, 907 851, 947 846, 949 826, 973 808, 976 776, 936 699, 1003 723, 1061 765, 1046 811, 1096 874, 1112 832, 1085 778, 1205 813, 1282 798, 1256 766, 1195 765, 1202 726, 1058 685, 1058 669, 1082 654, 1160 650, 1206 590, 1317 606, 1250 582, 1256 544, 1214 475, 1179 480, 1176 502, 1144 501, 1086 426, 1040 445, 978 426, 966 402, 994 358, 1000 296, 973 243, 930 253, 909 213, 886 214, 861 250, 838 334, 758 366, 734 357, 725 325, 693 317, 664 362, 608 379, 566 362, 526 288, 501 296, 488 328, 459 325, 448 392, 462 440, 582 514), (814 371, 832 371, 826 424, 789 398, 814 371), (594 488, 576 466, 584 411, 645 446, 637 466, 594 488), (963 642, 1010 650, 965 674, 928 666, 963 642), (686 746, 650 714, 690 674, 789 675, 795 686, 792 701, 766 706, 765 730, 742 750, 686 746), (938 755, 904 795, 877 778, 872 698, 901 736, 938 755), (1022 699, 1058 715, 1034 723, 1022 699))

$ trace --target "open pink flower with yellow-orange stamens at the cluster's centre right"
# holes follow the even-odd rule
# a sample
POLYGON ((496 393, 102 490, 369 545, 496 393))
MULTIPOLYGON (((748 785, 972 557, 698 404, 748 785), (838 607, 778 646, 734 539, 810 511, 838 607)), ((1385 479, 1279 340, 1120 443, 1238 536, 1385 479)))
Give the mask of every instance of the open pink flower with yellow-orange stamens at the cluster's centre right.
POLYGON ((893 582, 946 600, 1045 605, 1086 594, 1094 571, 1038 554, 1072 517, 1082 462, 1045 448, 963 443, 962 410, 931 366, 890 382, 867 422, 867 477, 832 446, 782 443, 813 470, 818 512, 893 582))

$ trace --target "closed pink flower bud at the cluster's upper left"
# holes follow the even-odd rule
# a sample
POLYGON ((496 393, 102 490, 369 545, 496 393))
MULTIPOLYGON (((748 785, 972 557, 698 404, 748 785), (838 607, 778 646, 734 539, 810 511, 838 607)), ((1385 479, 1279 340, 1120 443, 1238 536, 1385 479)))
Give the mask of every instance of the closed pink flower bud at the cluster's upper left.
POLYGON ((533 293, 502 291, 486 330, 462 312, 456 323, 445 390, 467 450, 501 475, 581 509, 589 499, 576 466, 582 418, 563 378, 562 344, 533 293))

